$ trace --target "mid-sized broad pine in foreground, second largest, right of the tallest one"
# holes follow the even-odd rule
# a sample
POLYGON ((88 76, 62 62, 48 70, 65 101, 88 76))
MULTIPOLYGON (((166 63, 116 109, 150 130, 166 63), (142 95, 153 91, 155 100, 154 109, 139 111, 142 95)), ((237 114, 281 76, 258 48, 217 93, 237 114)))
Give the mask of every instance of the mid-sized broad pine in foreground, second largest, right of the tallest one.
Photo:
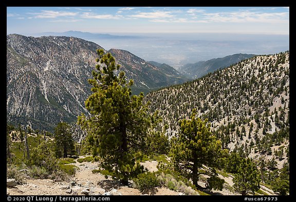
POLYGON ((174 168, 184 176, 191 178, 193 185, 202 189, 198 184, 200 172, 198 169, 207 166, 208 175, 215 177, 214 168, 219 168, 227 150, 222 150, 221 141, 211 132, 208 119, 202 121, 196 118, 193 109, 189 120, 180 121, 180 133, 172 139, 172 161, 174 168))

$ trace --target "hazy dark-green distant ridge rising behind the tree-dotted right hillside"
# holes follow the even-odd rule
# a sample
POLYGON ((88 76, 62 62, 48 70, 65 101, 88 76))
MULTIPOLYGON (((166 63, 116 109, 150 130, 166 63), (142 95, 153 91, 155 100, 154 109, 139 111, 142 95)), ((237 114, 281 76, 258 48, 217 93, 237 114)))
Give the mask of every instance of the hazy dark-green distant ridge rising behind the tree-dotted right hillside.
POLYGON ((255 54, 237 53, 224 58, 215 58, 207 61, 199 61, 193 64, 186 64, 179 68, 179 71, 192 79, 200 78, 209 72, 228 67, 232 64, 256 56, 255 54))

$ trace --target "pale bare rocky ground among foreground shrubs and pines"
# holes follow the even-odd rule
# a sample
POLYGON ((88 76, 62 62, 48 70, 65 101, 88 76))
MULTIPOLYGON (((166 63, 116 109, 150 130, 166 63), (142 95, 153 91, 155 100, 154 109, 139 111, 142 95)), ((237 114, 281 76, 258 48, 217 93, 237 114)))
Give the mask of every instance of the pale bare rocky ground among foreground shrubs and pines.
MULTIPOLYGON (((83 158, 81 156, 80 158, 83 158)), ((7 195, 184 195, 168 188, 160 187, 149 192, 140 192, 134 188, 134 183, 130 180, 128 186, 121 185, 111 177, 105 178, 100 173, 93 174, 91 171, 99 169, 97 162, 79 163, 76 159, 75 166, 79 168, 75 176, 70 181, 57 182, 51 179, 26 179, 23 185, 7 187, 7 195)), ((149 171, 157 171, 157 161, 146 161, 142 163, 149 171)), ((233 186, 233 176, 220 178, 225 179, 225 189, 222 191, 205 191, 210 195, 240 195, 231 191, 233 186), (228 187, 228 188, 227 188, 228 187)), ((204 183, 199 182, 201 186, 204 183)), ((272 190, 261 186, 261 189, 269 195, 274 195, 272 190)))

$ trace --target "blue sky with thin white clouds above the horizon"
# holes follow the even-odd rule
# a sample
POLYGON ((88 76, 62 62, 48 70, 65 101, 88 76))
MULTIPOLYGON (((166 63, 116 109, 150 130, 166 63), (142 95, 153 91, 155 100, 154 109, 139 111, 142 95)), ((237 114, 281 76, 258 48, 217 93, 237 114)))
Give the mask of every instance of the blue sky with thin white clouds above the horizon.
POLYGON ((7 34, 289 34, 289 7, 7 7, 7 34))

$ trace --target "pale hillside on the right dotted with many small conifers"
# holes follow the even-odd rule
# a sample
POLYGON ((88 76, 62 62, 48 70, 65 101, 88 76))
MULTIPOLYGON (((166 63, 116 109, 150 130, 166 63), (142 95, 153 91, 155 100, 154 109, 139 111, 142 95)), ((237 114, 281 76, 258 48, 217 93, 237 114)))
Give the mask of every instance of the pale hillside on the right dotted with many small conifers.
POLYGON ((289 155, 289 51, 257 56, 200 79, 151 92, 151 112, 159 111, 169 137, 194 108, 208 119, 223 148, 275 161, 289 155), (280 149, 279 149, 280 148, 280 149))

